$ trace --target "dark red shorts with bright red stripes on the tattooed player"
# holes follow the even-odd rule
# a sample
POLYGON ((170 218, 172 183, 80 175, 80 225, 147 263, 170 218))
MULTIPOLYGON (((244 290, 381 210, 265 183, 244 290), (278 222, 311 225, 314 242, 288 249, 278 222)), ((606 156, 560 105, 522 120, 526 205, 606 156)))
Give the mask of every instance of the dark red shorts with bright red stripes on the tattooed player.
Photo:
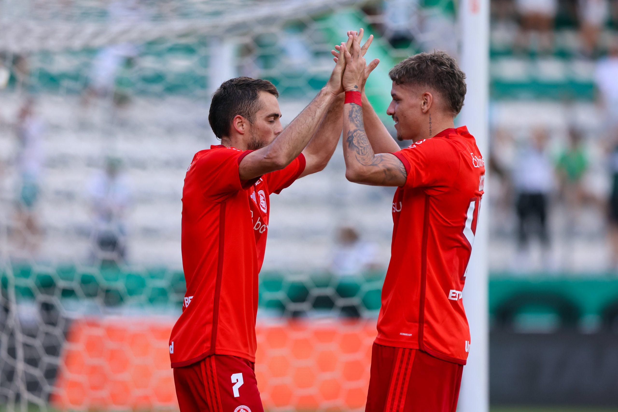
POLYGON ((373 344, 365 412, 455 412, 464 366, 373 344))

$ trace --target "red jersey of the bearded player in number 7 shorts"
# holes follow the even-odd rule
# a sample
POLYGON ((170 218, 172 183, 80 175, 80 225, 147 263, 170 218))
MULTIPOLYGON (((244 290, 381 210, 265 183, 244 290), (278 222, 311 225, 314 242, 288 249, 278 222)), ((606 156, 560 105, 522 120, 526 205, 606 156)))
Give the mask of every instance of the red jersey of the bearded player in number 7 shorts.
POLYGON ((285 169, 242 182, 251 151, 211 146, 193 156, 182 190, 182 266, 187 293, 169 338, 172 368, 209 355, 255 362, 258 272, 264 261, 269 195, 305 169, 300 154, 285 169))

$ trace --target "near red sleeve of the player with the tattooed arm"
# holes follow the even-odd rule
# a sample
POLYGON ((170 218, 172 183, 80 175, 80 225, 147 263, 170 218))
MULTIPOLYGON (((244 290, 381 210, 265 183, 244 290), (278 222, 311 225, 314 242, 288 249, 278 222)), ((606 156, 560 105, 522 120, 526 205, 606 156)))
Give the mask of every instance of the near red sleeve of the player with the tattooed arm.
POLYGON ((420 140, 393 154, 403 162, 408 173, 404 188, 447 191, 459 172, 459 154, 446 138, 420 140))

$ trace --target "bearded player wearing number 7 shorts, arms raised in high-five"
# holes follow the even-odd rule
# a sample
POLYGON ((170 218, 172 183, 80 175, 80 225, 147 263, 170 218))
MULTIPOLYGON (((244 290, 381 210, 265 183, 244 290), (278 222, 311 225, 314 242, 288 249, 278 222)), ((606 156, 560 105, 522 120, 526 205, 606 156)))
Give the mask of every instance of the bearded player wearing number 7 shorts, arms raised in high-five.
POLYGON ((233 78, 213 95, 208 120, 221 145, 195 154, 182 192, 187 293, 169 339, 182 412, 263 411, 253 366, 269 196, 331 158, 341 135, 344 65, 337 61, 285 130, 267 80, 233 78))

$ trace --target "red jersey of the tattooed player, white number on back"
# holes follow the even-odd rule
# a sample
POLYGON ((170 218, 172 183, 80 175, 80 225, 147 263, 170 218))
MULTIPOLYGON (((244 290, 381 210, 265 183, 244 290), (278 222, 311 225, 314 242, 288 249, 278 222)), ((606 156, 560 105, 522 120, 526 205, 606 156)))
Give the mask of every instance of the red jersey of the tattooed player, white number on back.
POLYGON ((392 203, 391 263, 375 342, 465 364, 470 329, 462 290, 483 196, 483 158, 465 127, 394 154, 408 176, 392 203))

